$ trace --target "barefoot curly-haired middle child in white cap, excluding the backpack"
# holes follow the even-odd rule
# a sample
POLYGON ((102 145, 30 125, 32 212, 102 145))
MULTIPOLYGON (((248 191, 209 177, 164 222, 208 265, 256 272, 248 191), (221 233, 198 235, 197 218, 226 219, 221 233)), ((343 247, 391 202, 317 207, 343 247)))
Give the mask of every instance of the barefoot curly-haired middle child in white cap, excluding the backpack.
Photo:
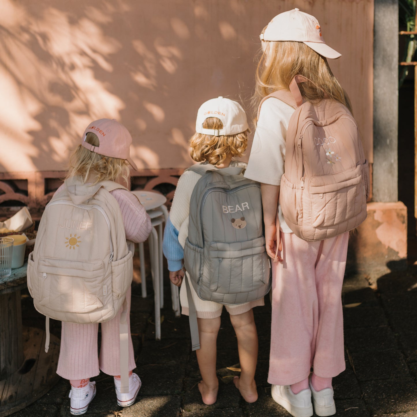
MULTIPOLYGON (((196 162, 210 163, 216 168, 246 166, 235 161, 246 149, 249 127, 243 108, 234 100, 218 97, 206 101, 198 109, 196 133, 190 140, 191 158, 196 162)), ((168 260, 169 278, 173 284, 181 286, 184 275, 182 269, 184 246, 188 236, 188 215, 193 188, 201 174, 187 170, 178 181, 173 198, 168 224, 163 239, 163 252, 168 260)), ((202 381, 198 384, 205 404, 213 404, 217 399, 219 381, 216 375, 216 340, 220 328, 223 304, 198 298, 190 285, 192 299, 197 311, 200 349, 196 350, 202 381)), ((186 285, 181 286, 180 300, 182 313, 189 315, 186 285)), ((264 298, 238 305, 225 305, 236 332, 240 378, 234 383, 247 402, 258 399, 254 380, 258 356, 258 336, 252 308, 264 305, 264 298)))

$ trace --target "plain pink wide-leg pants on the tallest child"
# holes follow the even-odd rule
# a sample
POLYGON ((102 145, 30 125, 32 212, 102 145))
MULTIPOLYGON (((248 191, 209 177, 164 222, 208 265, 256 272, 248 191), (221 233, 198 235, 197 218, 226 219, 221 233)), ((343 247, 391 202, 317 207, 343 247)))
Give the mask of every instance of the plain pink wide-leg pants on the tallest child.
POLYGON ((307 242, 282 233, 283 262, 272 263, 268 382, 290 385, 345 369, 342 283, 349 232, 307 242))

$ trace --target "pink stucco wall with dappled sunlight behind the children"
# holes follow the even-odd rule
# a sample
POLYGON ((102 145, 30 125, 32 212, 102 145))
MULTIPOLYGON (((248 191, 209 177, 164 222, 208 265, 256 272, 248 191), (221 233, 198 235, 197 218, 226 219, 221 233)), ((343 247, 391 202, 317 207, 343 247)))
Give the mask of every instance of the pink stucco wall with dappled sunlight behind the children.
POLYGON ((188 166, 198 106, 251 111, 259 33, 294 7, 342 53, 331 66, 372 161, 372 0, 1 0, 0 173, 64 170, 102 117, 131 131, 139 169, 188 166))

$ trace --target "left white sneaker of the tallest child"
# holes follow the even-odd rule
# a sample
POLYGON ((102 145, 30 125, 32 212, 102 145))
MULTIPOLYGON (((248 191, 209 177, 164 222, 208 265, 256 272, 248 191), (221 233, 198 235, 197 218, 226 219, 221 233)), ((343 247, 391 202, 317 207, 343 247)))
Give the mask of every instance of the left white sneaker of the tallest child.
POLYGON ((294 394, 290 385, 271 385, 271 396, 275 402, 294 417, 311 417, 313 415, 311 391, 308 388, 294 394))

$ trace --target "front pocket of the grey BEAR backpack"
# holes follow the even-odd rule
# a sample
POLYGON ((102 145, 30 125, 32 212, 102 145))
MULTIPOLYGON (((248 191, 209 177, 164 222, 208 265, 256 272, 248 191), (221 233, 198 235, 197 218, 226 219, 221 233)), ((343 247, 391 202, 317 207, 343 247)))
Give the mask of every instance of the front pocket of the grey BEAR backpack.
POLYGON ((208 258, 210 290, 216 293, 249 293, 269 282, 264 236, 244 242, 211 242, 208 258))

